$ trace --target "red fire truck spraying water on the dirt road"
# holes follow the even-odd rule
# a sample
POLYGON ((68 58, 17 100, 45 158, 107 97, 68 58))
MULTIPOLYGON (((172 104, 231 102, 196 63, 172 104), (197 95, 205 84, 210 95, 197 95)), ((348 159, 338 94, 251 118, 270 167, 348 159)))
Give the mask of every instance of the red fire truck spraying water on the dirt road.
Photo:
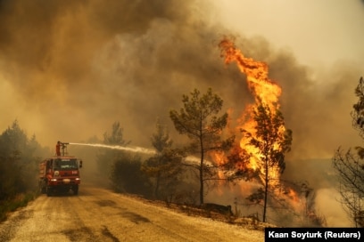
POLYGON ((82 160, 71 157, 67 152, 69 143, 57 142, 56 156, 46 158, 39 164, 39 190, 52 196, 54 192, 69 192, 79 194, 79 168, 82 160))

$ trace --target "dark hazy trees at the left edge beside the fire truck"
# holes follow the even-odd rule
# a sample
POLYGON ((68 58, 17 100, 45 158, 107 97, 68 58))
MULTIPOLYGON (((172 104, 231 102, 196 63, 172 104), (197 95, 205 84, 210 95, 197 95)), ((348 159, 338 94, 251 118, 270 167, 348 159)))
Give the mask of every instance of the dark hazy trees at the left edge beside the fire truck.
POLYGON ((17 120, 0 135, 0 221, 37 197, 38 163, 48 154, 17 120))

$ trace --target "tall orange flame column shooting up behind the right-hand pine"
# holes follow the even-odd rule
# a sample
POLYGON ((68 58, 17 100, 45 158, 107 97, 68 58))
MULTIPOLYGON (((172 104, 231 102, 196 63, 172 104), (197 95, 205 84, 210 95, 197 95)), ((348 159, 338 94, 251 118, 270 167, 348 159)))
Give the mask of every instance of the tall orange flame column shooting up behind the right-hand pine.
MULTIPOLYGON (((237 67, 246 75, 247 85, 251 91, 255 103, 246 107, 243 117, 244 120, 240 128, 246 130, 254 135, 256 121, 253 119, 252 113, 258 108, 261 103, 264 106, 269 107, 270 111, 274 114, 279 109, 278 99, 281 94, 281 88, 277 83, 269 79, 268 65, 265 62, 256 61, 252 58, 244 57, 244 54, 236 48, 233 41, 228 38, 224 38, 219 43, 221 50, 221 56, 225 58, 225 63, 236 62, 237 67)), ((285 126, 280 127, 279 134, 284 135, 285 126)), ((254 137, 258 139, 258 137, 254 137)), ((247 139, 242 138, 240 141, 240 147, 246 150, 250 155, 249 166, 256 170, 260 167, 261 150, 249 144, 247 139)), ((274 149, 279 149, 279 145, 274 145, 274 149)), ((261 176, 264 176, 264 169, 261 169, 261 176)), ((271 185, 277 185, 279 182, 279 168, 272 167, 269 169, 269 180, 272 181, 271 185)))

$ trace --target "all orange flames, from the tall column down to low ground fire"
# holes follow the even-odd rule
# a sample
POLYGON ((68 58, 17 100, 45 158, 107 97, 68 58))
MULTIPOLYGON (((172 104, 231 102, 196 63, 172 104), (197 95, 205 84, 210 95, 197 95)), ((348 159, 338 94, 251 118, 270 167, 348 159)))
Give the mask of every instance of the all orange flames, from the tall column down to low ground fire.
MULTIPOLYGON (((238 119, 240 124, 237 128, 244 129, 246 132, 251 133, 254 139, 260 140, 256 134, 257 123, 254 120, 254 111, 257 111, 259 105, 262 104, 264 107, 269 108, 269 112, 271 112, 272 115, 277 114, 277 110, 280 108, 279 96, 282 93, 281 87, 277 85, 276 82, 269 79, 269 67, 267 63, 244 57, 244 54, 236 48, 236 45, 232 40, 227 37, 222 39, 219 43, 219 48, 221 50, 221 57, 225 59, 225 63, 229 64, 231 62, 236 62, 238 69, 246 75, 247 85, 254 97, 254 103, 247 105, 242 117, 238 119)), ((284 140, 284 125, 281 125, 278 128, 277 135, 282 138, 280 140, 284 140)), ((242 160, 247 160, 248 163, 236 162, 235 168, 237 170, 245 169, 246 171, 246 168, 249 168, 254 171, 259 171, 261 181, 264 183, 266 173, 264 167, 262 167, 263 162, 261 162, 261 157, 264 156, 262 156, 261 150, 250 144, 249 139, 244 137, 239 142, 239 145, 239 150, 243 151, 239 151, 240 153, 237 155, 236 160, 239 161, 239 158, 241 158, 242 160), (240 167, 241 165, 245 166, 240 167)), ((279 149, 282 148, 277 142, 273 144, 273 149, 279 151, 279 149)), ((236 156, 236 152, 233 153, 234 156, 236 156)), ((219 153, 215 154, 215 161, 219 162, 219 164, 223 164, 227 162, 227 159, 224 159, 224 156, 219 153)), ((286 188, 283 184, 281 184, 280 171, 281 170, 278 165, 269 167, 269 187, 273 190, 277 197, 282 198, 282 196, 285 196, 285 198, 287 198, 294 207, 294 210, 302 210, 302 200, 298 191, 286 188)), ((222 174, 220 173, 219 175, 221 176, 222 174)), ((247 189, 244 188, 244 190, 246 191, 247 189)))

